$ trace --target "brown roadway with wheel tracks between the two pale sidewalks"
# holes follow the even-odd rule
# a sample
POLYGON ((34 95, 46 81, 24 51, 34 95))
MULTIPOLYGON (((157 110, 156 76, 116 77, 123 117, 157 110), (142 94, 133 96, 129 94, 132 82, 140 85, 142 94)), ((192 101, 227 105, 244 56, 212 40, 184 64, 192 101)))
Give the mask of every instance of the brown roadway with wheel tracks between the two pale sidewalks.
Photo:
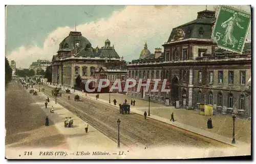
MULTIPOLYGON (((51 97, 52 88, 44 86, 46 95, 51 97)), ((122 115, 118 108, 110 107, 104 103, 95 103, 94 100, 81 98, 82 101, 75 102, 74 95, 71 94, 71 100, 67 99, 67 94, 62 93, 62 97, 57 98, 57 102, 77 113, 79 117, 84 117, 88 122, 103 132, 110 138, 115 137, 117 133, 117 119, 121 120, 120 134, 121 143, 126 146, 179 146, 179 147, 226 147, 215 140, 202 137, 181 130, 166 123, 148 118, 144 120, 143 116, 133 113, 122 115)))

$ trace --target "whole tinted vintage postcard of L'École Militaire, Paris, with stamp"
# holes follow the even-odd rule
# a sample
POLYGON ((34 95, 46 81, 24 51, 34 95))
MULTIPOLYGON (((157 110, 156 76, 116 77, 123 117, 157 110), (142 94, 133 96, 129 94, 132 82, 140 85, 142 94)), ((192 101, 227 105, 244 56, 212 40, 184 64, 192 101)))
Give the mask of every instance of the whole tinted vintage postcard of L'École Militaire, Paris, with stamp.
POLYGON ((5 157, 251 158, 250 11, 7 5, 5 157))

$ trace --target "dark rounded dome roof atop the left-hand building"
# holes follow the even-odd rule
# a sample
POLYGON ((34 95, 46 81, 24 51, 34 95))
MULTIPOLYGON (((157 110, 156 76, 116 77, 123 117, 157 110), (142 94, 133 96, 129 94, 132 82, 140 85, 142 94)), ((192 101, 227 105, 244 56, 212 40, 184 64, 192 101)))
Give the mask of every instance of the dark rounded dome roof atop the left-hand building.
POLYGON ((80 48, 91 48, 92 44, 90 41, 83 37, 81 32, 70 32, 64 40, 59 44, 59 50, 69 49, 72 50, 75 46, 80 46, 80 48), (78 44, 77 44, 78 43, 78 44))

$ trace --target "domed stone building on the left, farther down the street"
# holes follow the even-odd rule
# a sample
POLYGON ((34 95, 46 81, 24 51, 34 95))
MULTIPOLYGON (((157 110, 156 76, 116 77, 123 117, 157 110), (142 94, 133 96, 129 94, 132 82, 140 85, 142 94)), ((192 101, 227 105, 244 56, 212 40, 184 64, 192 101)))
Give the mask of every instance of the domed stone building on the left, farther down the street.
POLYGON ((52 58, 52 82, 67 88, 79 87, 76 84, 78 75, 85 83, 88 79, 110 78, 108 74, 112 69, 116 70, 116 78, 121 79, 121 74, 127 74, 126 70, 120 69, 122 63, 123 58, 119 57, 109 39, 101 48, 93 48, 81 32, 71 31, 52 58))

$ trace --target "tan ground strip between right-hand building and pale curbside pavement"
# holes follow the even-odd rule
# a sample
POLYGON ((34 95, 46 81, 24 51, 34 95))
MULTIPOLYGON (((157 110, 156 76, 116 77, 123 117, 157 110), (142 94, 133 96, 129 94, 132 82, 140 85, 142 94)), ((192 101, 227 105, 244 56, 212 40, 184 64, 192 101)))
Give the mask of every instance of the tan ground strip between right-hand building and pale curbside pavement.
MULTIPOLYGON (((88 96, 95 97, 96 94, 88 94, 88 96)), ((108 93, 99 94, 99 98, 109 101, 108 93)), ((123 103, 124 100, 127 100, 127 103, 130 103, 131 100, 135 100, 135 106, 131 106, 132 109, 137 109, 140 111, 148 112, 148 101, 136 99, 127 95, 119 93, 111 93, 111 103, 113 100, 117 100, 117 104, 123 103)), ((174 118, 177 122, 194 126, 200 129, 204 129, 219 135, 226 137, 232 137, 233 133, 233 121, 231 116, 226 115, 213 115, 213 116, 204 116, 199 115, 198 110, 186 110, 186 109, 176 109, 174 107, 164 106, 160 103, 150 103, 151 114, 158 115, 162 118, 170 119, 170 113, 174 112, 174 118), (213 129, 207 128, 207 120, 211 118, 212 124, 214 125, 213 129)), ((251 143, 251 121, 244 119, 237 119, 235 125, 236 139, 241 140, 245 143, 251 143)))

